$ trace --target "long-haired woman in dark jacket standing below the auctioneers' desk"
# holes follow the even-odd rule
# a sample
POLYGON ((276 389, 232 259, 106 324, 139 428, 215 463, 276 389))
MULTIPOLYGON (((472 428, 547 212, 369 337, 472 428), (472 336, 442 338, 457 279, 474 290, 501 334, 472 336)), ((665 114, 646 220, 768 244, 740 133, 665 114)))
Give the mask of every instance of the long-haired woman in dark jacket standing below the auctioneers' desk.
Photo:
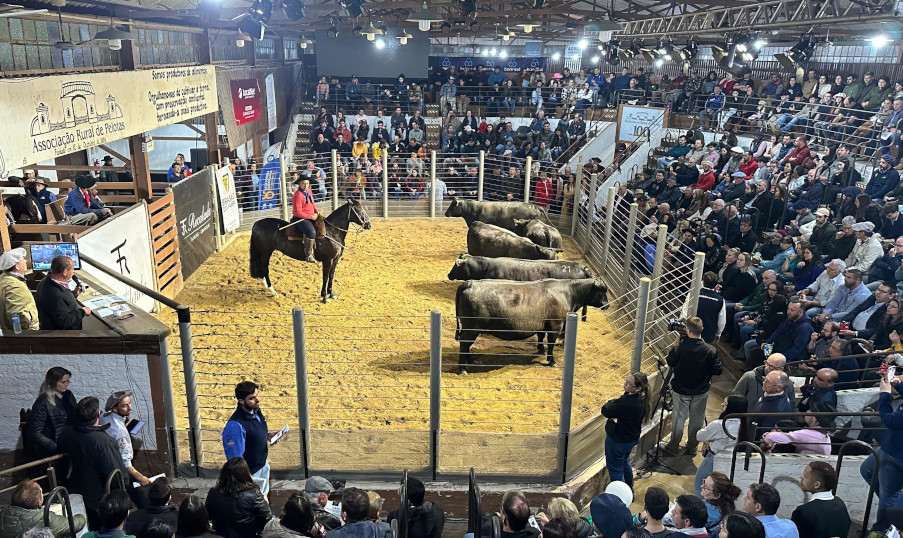
POLYGON ((72 372, 62 366, 47 370, 38 399, 31 406, 26 436, 38 459, 59 454, 60 433, 75 423, 77 404, 69 390, 71 378, 72 372))

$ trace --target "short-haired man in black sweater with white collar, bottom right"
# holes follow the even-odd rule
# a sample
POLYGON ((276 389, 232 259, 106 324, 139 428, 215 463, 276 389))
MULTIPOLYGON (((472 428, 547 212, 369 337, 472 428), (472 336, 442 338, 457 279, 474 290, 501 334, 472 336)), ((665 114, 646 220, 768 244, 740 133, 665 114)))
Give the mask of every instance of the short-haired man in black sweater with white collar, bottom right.
POLYGON ((800 487, 811 495, 809 502, 797 506, 790 516, 800 538, 830 538, 850 532, 847 505, 831 493, 836 483, 837 473, 828 462, 813 461, 803 470, 800 487))

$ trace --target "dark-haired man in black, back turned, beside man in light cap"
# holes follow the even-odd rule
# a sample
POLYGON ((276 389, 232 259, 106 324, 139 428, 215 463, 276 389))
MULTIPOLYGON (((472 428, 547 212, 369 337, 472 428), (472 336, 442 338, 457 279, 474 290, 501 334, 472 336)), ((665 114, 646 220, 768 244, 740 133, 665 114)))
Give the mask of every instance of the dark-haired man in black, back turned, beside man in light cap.
MULTIPOLYGON (((75 417, 75 425, 63 430, 58 443, 59 451, 69 454, 71 471, 66 486, 69 493, 78 493, 84 498, 88 528, 98 530, 104 524, 99 511, 107 477, 116 470, 125 477, 128 471, 122 465, 116 441, 100 426, 100 403, 97 398, 82 398, 76 406, 75 417)), ((130 505, 131 501, 128 501, 130 505)), ((122 519, 125 520, 125 516, 122 519)))

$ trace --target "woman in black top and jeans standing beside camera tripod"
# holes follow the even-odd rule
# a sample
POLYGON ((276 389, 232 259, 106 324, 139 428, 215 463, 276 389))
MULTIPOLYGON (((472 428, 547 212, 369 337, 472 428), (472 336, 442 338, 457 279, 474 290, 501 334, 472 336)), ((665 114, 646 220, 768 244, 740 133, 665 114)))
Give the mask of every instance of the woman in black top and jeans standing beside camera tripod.
POLYGON ((612 482, 633 487, 630 452, 640 441, 640 430, 647 414, 649 381, 643 372, 624 378, 624 394, 602 406, 605 422, 605 462, 612 482))

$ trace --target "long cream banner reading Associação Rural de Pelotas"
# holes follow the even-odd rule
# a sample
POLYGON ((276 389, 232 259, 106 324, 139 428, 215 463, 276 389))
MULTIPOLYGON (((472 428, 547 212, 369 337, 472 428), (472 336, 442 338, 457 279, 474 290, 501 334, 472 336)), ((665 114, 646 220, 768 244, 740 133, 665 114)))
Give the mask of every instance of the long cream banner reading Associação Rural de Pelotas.
POLYGON ((212 65, 2 79, 0 103, 0 176, 219 109, 212 65))

